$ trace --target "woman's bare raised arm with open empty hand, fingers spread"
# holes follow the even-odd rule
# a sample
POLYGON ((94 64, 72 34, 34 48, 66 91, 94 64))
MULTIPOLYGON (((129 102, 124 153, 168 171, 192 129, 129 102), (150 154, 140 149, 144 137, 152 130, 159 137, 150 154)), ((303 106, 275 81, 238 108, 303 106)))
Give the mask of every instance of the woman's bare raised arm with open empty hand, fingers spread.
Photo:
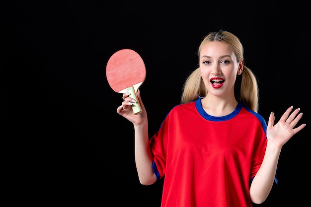
POLYGON ((272 189, 282 146, 306 126, 302 124, 294 128, 303 114, 299 113, 300 108, 291 114, 292 109, 292 106, 288 108, 275 125, 274 114, 269 116, 265 156, 249 190, 251 201, 255 204, 264 202, 272 189))

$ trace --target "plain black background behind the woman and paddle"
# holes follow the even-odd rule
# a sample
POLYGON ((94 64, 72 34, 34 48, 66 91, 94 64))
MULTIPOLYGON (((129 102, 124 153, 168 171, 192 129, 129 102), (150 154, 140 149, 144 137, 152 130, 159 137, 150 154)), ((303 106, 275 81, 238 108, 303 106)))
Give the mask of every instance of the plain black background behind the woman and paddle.
POLYGON ((293 105, 307 123, 284 145, 279 185, 258 206, 310 204, 307 3, 12 0, 1 10, 0 121, 12 203, 159 207, 162 181, 139 184, 133 126, 116 113, 122 95, 109 87, 106 63, 124 48, 142 56, 153 135, 179 104, 200 41, 223 29, 244 46, 266 121, 293 105))

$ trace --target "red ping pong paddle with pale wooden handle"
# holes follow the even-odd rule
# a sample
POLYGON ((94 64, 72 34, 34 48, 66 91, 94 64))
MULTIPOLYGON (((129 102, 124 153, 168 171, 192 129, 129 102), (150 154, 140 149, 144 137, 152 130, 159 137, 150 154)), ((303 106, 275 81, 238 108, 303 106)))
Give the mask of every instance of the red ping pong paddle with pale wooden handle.
POLYGON ((108 60, 106 77, 110 87, 118 93, 130 93, 137 103, 132 104, 134 114, 142 112, 137 90, 146 78, 146 67, 141 56, 131 49, 115 52, 108 60))

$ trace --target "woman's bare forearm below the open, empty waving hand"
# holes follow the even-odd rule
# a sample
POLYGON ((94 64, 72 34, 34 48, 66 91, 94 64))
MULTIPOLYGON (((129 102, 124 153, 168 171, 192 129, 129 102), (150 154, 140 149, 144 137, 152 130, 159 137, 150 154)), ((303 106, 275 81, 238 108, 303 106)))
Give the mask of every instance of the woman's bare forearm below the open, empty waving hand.
POLYGON ((250 198, 253 203, 261 204, 268 197, 273 186, 280 153, 281 148, 275 146, 268 140, 262 164, 249 190, 250 198))

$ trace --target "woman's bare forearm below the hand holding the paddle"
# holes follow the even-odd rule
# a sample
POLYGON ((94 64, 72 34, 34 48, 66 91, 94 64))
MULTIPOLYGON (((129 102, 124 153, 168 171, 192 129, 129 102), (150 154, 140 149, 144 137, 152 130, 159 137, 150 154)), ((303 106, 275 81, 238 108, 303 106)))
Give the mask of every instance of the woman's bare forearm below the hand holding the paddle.
POLYGON ((153 155, 149 146, 148 122, 135 129, 135 163, 140 183, 151 185, 156 182, 156 175, 152 169, 153 155))

